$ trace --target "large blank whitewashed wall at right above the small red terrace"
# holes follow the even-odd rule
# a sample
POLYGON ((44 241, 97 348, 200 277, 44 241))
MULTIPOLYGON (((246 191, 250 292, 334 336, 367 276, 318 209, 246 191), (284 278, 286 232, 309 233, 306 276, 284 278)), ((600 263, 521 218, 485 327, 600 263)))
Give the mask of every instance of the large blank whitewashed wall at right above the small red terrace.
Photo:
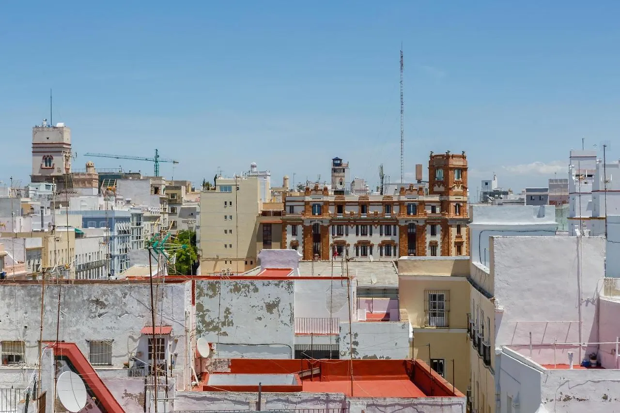
MULTIPOLYGON (((531 332, 534 360, 544 364, 554 362, 554 340, 598 342, 604 244, 598 237, 493 237, 495 347, 521 346, 529 355, 531 332)), ((569 350, 557 349, 557 359, 567 360, 569 350)), ((580 363, 577 350, 575 363, 580 363)))

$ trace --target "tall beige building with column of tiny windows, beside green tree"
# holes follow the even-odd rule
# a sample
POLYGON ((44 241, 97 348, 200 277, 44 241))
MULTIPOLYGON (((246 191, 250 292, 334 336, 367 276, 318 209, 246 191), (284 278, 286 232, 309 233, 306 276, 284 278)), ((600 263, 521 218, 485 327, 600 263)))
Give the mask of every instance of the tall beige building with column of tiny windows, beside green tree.
POLYGON ((243 272, 256 266, 257 218, 262 209, 259 177, 216 178, 200 193, 200 272, 229 269, 243 272))

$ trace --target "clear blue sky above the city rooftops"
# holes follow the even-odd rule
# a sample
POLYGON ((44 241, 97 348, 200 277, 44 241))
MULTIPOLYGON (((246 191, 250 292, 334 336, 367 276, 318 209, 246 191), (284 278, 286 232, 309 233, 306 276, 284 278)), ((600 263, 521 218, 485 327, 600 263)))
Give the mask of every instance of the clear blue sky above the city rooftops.
POLYGON ((275 182, 324 180, 334 156, 371 186, 381 163, 396 180, 402 42, 407 175, 430 151, 466 151, 471 190, 493 172, 544 185, 582 138, 620 152, 619 14, 613 1, 7 2, 0 180, 27 182, 50 88, 75 167, 158 148, 195 182, 252 161, 275 182))

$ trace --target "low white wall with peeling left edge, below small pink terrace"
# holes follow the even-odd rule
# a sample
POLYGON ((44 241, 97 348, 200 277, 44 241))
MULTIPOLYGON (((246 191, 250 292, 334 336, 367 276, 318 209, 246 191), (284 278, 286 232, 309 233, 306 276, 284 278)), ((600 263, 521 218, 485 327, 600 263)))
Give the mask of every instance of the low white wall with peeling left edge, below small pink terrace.
MULTIPOLYGON (((352 323, 353 358, 409 357, 409 322, 360 321, 352 323)), ((349 324, 340 322, 340 358, 349 357, 349 324)))

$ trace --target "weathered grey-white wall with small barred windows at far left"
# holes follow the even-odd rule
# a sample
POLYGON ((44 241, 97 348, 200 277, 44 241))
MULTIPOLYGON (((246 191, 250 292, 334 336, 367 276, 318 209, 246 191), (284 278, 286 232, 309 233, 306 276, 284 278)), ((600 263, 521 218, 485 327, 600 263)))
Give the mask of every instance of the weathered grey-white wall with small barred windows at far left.
MULTIPOLYGON (((56 340, 58 285, 45 288, 43 340, 56 340)), ((136 351, 148 354, 144 326, 151 325, 150 288, 147 283, 76 283, 60 286, 60 329, 58 339, 74 342, 90 355, 89 340, 112 341, 112 365, 95 366, 102 376, 127 376, 123 363, 136 351)), ((175 374, 184 376, 184 365, 192 362, 185 343, 185 311, 192 314, 191 283, 159 286, 156 323, 172 326, 170 353, 178 353, 175 374)), ((0 337, 24 340, 26 367, 38 362, 41 285, 5 284, 0 288, 0 337)), ((193 354, 193 353, 190 353, 193 354)), ((14 369, 11 369, 14 370, 14 369)), ((189 375, 187 374, 187 381, 189 375)), ((0 381, 2 367, 0 367, 0 381)), ((180 380, 182 384, 182 380, 180 380)))

